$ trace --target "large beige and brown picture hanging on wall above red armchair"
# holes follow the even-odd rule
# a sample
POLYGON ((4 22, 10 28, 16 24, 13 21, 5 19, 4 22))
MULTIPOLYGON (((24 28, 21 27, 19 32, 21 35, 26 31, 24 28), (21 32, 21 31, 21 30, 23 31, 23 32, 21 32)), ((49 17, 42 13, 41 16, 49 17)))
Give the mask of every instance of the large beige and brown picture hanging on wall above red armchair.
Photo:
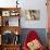
POLYGON ((39 10, 25 10, 26 21, 38 21, 40 18, 39 10))

